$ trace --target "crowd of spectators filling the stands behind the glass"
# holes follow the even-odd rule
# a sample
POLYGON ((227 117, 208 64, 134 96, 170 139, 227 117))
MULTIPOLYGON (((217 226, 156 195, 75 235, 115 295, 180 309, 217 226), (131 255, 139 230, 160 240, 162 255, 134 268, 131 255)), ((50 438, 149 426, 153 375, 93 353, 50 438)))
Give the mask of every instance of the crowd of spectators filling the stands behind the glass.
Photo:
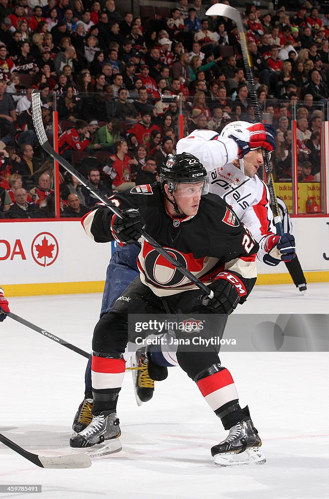
MULTIPOLYGON (((179 0, 168 17, 140 18, 114 0, 0 0, 0 218, 55 215, 58 186, 34 132, 33 89, 49 140, 55 104, 60 155, 105 195, 158 180, 179 132, 254 120, 237 28, 205 15, 215 2, 179 0)), ((319 181, 329 7, 316 5, 288 14, 247 3, 242 14, 262 117, 276 130, 278 182, 291 181, 292 119, 298 181, 319 181)), ((61 169, 59 183, 62 217, 94 205, 61 169)))

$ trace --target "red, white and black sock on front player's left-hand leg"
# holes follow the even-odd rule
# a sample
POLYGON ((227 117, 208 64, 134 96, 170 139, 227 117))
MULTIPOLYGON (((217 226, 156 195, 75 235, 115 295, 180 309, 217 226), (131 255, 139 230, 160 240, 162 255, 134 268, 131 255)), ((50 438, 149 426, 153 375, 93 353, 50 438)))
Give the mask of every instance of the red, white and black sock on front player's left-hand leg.
POLYGON ((92 414, 94 416, 103 411, 115 412, 124 370, 125 360, 123 358, 112 359, 92 356, 92 414))

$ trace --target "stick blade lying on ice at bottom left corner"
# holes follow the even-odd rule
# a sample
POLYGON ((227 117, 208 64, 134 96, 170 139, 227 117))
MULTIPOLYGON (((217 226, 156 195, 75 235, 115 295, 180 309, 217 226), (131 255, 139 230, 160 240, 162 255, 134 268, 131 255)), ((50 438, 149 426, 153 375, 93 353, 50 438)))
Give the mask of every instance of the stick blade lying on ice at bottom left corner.
POLYGON ((25 451, 22 447, 15 444, 7 437, 0 433, 0 442, 7 447, 9 447, 12 451, 20 454, 25 459, 28 459, 31 463, 40 468, 52 468, 52 469, 77 469, 77 468, 89 468, 91 466, 91 461, 89 456, 86 454, 68 454, 66 456, 38 456, 37 454, 33 454, 32 452, 25 451))

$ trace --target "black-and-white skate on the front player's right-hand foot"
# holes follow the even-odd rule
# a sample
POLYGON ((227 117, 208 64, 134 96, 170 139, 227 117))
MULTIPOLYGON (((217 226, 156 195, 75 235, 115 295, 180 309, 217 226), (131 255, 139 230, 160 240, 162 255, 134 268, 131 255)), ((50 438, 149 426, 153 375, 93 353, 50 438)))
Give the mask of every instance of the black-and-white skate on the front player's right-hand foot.
POLYGON ((241 466, 265 463, 266 458, 260 450, 261 440, 252 424, 248 408, 243 412, 246 417, 234 425, 227 437, 211 448, 211 456, 217 466, 241 466))

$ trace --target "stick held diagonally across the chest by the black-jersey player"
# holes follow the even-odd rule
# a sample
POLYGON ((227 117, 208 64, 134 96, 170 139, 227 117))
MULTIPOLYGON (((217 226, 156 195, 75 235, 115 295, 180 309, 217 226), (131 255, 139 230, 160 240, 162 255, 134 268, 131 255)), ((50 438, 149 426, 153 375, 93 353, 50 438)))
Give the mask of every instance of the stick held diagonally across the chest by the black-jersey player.
MULTIPOLYGON (((40 146, 52 156, 53 159, 57 161, 67 172, 69 172, 73 177, 75 177, 84 187, 86 187, 92 194, 99 199, 104 205, 115 213, 120 219, 124 218, 124 213, 121 212, 109 199, 106 198, 98 189, 95 189, 90 182, 88 182, 75 168, 73 168, 64 158, 62 158, 56 151, 51 147, 42 122, 41 107, 40 107, 40 92, 33 90, 31 94, 31 110, 32 119, 35 129, 37 139, 40 146)), ((141 237, 150 246, 154 248, 159 254, 161 254, 172 266, 176 267, 185 277, 187 277, 195 286, 197 286, 201 291, 203 291, 210 299, 213 298, 213 291, 209 289, 203 282, 201 282, 195 275, 193 275, 186 267, 184 267, 179 261, 175 260, 168 251, 164 250, 153 238, 151 238, 146 232, 143 232, 141 237)))

